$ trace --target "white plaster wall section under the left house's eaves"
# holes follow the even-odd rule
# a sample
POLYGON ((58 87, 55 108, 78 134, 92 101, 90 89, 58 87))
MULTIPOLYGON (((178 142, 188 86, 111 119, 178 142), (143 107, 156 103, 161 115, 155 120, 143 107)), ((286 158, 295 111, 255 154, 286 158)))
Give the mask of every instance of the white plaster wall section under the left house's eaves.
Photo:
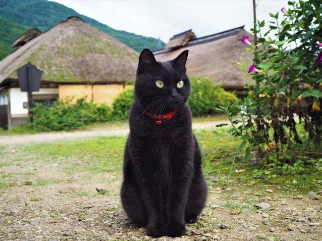
POLYGON ((28 102, 27 92, 21 92, 20 88, 9 89, 11 115, 28 114, 28 109, 23 108, 23 102, 28 102))

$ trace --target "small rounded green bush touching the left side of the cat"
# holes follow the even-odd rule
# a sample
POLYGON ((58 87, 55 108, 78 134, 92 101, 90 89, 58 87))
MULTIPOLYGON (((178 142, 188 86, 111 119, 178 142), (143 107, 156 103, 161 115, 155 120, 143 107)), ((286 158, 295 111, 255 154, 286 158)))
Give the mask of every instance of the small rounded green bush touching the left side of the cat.
POLYGON ((113 102, 113 120, 126 120, 133 101, 133 88, 122 91, 113 102))

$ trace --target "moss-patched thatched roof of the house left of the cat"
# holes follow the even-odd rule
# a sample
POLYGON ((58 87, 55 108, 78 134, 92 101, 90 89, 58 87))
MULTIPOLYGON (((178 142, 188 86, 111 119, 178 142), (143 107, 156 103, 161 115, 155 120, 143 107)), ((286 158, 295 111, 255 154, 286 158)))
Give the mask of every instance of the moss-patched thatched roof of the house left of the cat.
POLYGON ((0 83, 17 79, 31 62, 54 82, 123 83, 135 80, 139 53, 78 17, 70 17, 0 61, 0 83))

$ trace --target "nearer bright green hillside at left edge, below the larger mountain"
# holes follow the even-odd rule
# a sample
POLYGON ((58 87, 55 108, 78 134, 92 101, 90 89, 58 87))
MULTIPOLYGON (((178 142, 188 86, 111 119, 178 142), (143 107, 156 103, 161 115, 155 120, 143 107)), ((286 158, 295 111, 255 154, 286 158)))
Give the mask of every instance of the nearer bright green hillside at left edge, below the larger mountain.
POLYGON ((13 42, 24 32, 30 29, 0 17, 0 60, 8 55, 14 48, 13 42))

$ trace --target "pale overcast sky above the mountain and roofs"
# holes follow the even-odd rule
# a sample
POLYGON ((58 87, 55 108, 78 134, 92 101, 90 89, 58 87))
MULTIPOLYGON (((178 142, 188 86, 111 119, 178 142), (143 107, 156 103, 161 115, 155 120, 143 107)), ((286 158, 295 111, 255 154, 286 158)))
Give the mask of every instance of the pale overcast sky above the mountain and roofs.
MULTIPOLYGON (((53 0, 117 30, 165 43, 192 28, 197 37, 245 25, 253 27, 252 0, 53 0)), ((287 0, 257 0, 257 18, 287 8, 287 0)))

